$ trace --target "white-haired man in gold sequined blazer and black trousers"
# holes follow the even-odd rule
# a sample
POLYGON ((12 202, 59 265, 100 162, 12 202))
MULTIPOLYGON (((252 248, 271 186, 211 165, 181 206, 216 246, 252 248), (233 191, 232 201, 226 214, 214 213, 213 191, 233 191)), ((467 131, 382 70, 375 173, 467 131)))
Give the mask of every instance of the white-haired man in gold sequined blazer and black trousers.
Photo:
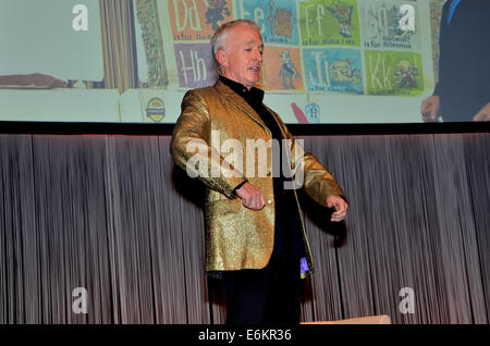
POLYGON ((334 222, 345 219, 348 206, 332 175, 302 150, 279 115, 262 103, 264 91, 254 87, 262 64, 259 30, 254 22, 237 20, 215 33, 220 78, 184 96, 171 153, 207 186, 206 270, 223 279, 226 323, 297 323, 299 279, 311 272, 313 261, 289 183, 303 174, 307 194, 334 209, 334 222), (273 145, 248 150, 250 141, 273 139, 285 140, 285 156, 273 145), (223 150, 223 158, 220 144, 236 150, 223 150), (240 147, 247 147, 245 155, 237 155, 240 147), (266 161, 261 168, 260 161, 266 161), (257 162, 262 173, 257 174, 257 162), (278 172, 278 166, 287 170, 278 172))

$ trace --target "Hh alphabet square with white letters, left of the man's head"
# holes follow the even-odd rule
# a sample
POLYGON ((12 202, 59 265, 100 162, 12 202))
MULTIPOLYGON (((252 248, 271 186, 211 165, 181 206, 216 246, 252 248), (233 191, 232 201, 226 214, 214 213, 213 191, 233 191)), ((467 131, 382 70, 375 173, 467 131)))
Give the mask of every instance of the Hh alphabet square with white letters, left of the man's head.
POLYGON ((218 78, 210 44, 175 44, 180 87, 200 88, 218 78))

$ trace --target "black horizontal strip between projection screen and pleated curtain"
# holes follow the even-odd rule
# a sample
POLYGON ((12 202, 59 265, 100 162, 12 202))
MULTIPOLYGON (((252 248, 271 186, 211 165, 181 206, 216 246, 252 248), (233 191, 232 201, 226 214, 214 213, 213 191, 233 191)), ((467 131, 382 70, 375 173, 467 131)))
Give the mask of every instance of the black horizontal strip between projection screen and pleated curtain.
MULTIPOLYGON (((0 134, 170 136, 172 135, 173 126, 173 124, 154 123, 0 121, 0 134)), ((290 124, 287 127, 295 136, 449 134, 488 133, 490 132, 490 122, 290 124)))

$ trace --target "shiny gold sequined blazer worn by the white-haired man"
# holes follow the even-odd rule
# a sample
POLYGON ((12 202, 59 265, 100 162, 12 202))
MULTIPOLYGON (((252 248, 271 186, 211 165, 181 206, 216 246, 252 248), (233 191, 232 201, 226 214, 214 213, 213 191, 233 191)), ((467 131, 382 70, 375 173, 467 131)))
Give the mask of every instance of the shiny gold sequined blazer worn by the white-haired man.
MULTIPOLYGON (((279 115, 269 111, 279 123, 283 137, 289 139, 291 158, 296 158, 291 160, 292 170, 303 168, 306 193, 322 206, 326 206, 330 195, 344 196, 327 169, 313 155, 303 151, 279 115)), ((270 146, 267 148, 267 166, 260 166, 257 163, 260 150, 249 151, 247 156, 247 139, 258 143, 260 139, 270 141, 271 138, 271 132, 254 109, 220 81, 212 87, 189 90, 184 96, 170 151, 180 168, 187 170, 191 176, 198 175, 207 187, 207 272, 261 269, 269 262, 274 240, 271 149, 270 146), (240 145, 242 156, 236 152, 240 145), (246 170, 250 160, 257 163, 254 171, 246 170), (247 209, 240 198, 232 197, 233 189, 245 180, 264 194, 266 207, 260 211, 247 209)), ((295 196, 297 202, 296 191, 295 196)), ((307 263, 313 272, 311 251, 303 220, 301 224, 307 263)))

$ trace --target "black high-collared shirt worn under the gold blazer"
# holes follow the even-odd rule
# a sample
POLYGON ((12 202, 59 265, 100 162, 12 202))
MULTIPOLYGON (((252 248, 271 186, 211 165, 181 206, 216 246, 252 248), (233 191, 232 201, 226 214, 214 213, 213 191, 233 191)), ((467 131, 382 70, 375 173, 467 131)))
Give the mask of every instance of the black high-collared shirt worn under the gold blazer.
MULTIPOLYGON (((278 122, 273 115, 264 106, 264 91, 252 87, 249 90, 242 84, 231 81, 226 77, 220 76, 220 82, 230 87, 233 91, 240 95, 260 116, 266 126, 272 134, 272 139, 279 141, 282 148, 282 136, 281 129, 278 122)), ((281 153, 279 155, 283 159, 281 153)), ((301 236, 301 224, 298 209, 296 206, 296 198, 291 189, 284 189, 284 181, 289 180, 282 174, 282 162, 281 162, 281 174, 278 177, 273 177, 273 189, 274 189, 274 205, 275 205, 275 224, 274 224, 274 252, 275 254, 287 254, 292 252, 295 256, 303 257, 303 239, 301 236)), ((242 187, 244 183, 236 186, 235 190, 242 187)))

